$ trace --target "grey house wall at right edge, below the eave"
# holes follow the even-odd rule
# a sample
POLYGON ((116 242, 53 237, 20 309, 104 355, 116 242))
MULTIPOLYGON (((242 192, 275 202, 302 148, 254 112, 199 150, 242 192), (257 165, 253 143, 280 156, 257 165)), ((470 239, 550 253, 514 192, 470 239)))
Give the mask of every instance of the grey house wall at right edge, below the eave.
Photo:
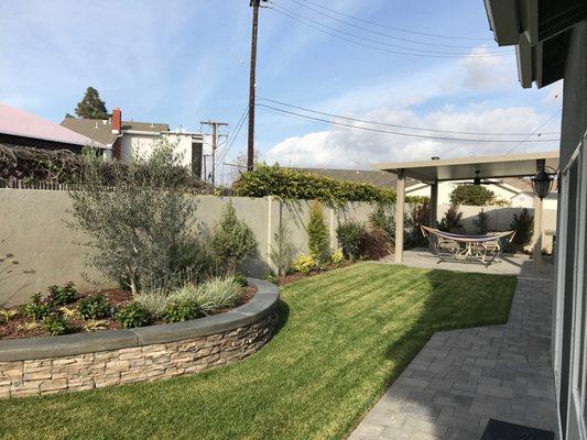
POLYGON ((587 21, 576 24, 565 64, 561 136, 561 212, 553 318, 553 363, 562 437, 586 438, 587 21))

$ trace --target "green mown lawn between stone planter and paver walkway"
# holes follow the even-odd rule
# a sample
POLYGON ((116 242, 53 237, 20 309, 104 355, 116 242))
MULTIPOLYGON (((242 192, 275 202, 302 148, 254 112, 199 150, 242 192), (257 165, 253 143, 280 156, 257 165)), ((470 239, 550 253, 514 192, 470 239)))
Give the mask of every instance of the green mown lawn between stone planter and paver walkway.
POLYGON ((232 366, 0 402, 12 439, 340 439, 431 334, 507 320, 515 278, 361 263, 282 289, 279 333, 232 366))

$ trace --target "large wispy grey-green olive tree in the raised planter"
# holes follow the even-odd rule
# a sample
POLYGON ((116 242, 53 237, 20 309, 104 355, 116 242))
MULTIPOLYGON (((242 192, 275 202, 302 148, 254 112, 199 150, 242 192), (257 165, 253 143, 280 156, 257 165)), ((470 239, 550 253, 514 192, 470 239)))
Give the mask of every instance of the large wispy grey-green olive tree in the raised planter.
MULTIPOLYGON (((89 265, 128 286, 169 283, 195 263, 195 198, 186 194, 181 157, 161 142, 149 156, 108 162, 86 151, 79 186, 69 191, 70 227, 94 250, 89 265)), ((187 173, 187 170, 185 170, 187 173)))

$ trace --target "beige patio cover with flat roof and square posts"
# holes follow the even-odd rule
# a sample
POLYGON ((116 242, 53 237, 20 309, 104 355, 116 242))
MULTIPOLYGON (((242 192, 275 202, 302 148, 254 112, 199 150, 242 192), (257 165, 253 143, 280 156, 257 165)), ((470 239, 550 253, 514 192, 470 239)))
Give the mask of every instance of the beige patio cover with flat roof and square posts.
MULTIPOLYGON (((540 167, 558 170, 558 152, 474 156, 459 158, 432 158, 418 162, 380 163, 373 169, 393 173, 398 176, 395 204, 395 263, 403 262, 405 179, 413 178, 431 186, 430 223, 437 224, 438 183, 446 180, 498 179, 506 177, 530 177, 540 167)), ((542 212, 543 202, 534 196, 534 237, 532 240, 534 268, 540 270, 542 260, 542 212)))

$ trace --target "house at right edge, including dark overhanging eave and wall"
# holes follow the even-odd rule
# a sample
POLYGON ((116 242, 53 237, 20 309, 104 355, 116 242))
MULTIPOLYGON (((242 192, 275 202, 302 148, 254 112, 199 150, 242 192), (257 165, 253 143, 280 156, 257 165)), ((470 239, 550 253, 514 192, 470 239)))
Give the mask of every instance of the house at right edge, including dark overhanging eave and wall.
POLYGON ((515 46, 522 87, 565 80, 552 364, 558 438, 586 439, 587 2, 486 0, 486 8, 498 44, 515 46))

